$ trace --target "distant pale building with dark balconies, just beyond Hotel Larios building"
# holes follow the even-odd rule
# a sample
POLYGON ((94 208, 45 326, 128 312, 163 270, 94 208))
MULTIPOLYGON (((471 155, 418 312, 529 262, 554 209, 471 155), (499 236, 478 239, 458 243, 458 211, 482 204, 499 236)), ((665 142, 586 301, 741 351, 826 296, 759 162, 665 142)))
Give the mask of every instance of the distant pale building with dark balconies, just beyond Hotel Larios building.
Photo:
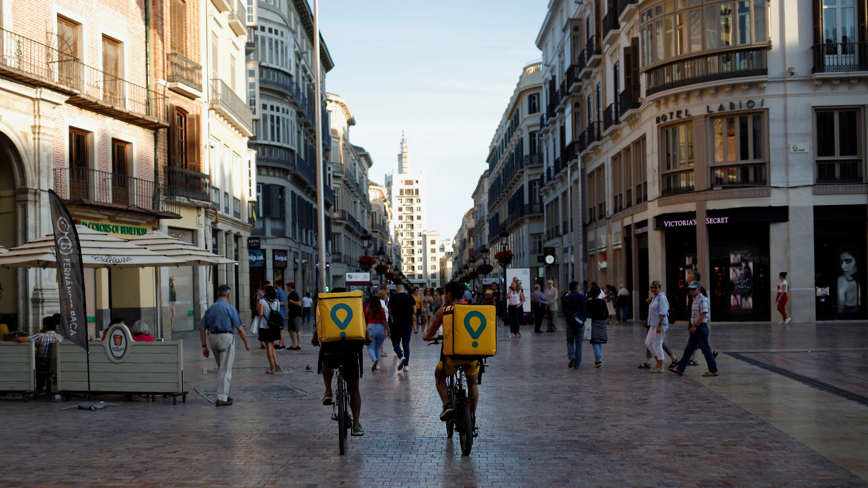
MULTIPOLYGON (((542 202, 540 181, 540 114, 542 112, 542 62, 529 62, 522 69, 503 118, 489 147, 487 208, 477 209, 478 241, 493 251, 513 252, 513 268, 529 268, 531 277, 542 283, 542 202), (485 219, 485 225, 480 221, 485 219), (507 232, 507 244, 500 234, 507 232)), ((477 197, 474 197, 477 200, 477 197)), ((479 244, 477 244, 477 254, 479 244)), ((491 254, 491 257, 494 255, 491 254)), ((479 263, 480 257, 476 257, 479 263)), ((495 266, 491 277, 502 270, 495 266)))

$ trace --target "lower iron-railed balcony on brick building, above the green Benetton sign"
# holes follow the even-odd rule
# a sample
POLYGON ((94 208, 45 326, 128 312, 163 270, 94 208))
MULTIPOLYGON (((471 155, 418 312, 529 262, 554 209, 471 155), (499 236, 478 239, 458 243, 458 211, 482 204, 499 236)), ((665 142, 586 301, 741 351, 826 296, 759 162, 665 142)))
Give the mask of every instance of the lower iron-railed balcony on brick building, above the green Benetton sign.
POLYGON ((90 168, 54 168, 54 191, 72 205, 136 211, 158 218, 181 218, 181 205, 167 200, 159 182, 90 168))

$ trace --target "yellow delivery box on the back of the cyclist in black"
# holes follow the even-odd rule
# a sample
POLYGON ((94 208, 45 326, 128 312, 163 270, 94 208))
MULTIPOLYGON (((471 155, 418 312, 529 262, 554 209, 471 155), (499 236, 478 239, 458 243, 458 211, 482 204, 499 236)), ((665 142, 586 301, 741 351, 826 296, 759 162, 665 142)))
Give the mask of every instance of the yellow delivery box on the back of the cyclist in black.
POLYGON ((317 313, 320 342, 365 340, 365 308, 361 291, 320 293, 317 313))

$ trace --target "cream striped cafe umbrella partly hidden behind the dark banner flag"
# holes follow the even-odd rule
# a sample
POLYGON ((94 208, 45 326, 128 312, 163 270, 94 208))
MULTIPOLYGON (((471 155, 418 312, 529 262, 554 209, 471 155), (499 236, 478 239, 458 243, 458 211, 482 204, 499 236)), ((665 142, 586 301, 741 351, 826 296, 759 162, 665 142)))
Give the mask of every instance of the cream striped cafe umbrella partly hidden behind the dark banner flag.
MULTIPOLYGON (((76 224, 85 268, 144 268, 145 266, 183 266, 186 260, 129 244, 123 239, 76 224)), ((38 238, 0 254, 0 266, 18 268, 56 268, 54 236, 38 238)))

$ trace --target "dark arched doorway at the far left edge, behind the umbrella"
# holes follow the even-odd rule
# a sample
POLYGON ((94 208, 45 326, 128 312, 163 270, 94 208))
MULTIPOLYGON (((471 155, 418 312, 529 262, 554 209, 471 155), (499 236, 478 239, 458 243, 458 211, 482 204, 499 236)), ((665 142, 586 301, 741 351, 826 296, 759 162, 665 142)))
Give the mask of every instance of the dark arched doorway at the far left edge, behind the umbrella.
MULTIPOLYGON (((21 157, 9 137, 0 133, 0 245, 7 249, 18 245, 16 182, 22 180, 21 157)), ((0 267, 0 323, 10 321, 10 329, 27 329, 19 327, 18 311, 18 269, 0 267)))

